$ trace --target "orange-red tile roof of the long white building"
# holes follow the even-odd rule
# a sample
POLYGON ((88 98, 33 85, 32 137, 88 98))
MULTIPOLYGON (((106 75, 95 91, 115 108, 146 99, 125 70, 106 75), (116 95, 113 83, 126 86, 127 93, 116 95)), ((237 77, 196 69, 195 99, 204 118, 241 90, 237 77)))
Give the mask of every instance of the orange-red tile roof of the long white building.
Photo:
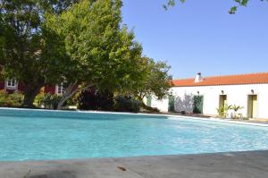
POLYGON ((226 75, 203 77, 203 81, 195 82, 195 79, 173 80, 175 87, 215 86, 215 85, 243 85, 268 83, 268 72, 248 73, 240 75, 226 75))

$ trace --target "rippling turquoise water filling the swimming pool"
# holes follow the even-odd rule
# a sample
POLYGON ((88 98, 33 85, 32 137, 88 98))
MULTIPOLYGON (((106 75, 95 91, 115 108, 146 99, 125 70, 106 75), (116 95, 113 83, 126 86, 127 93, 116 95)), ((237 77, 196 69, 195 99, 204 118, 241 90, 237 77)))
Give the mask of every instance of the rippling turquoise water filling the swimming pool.
POLYGON ((0 160, 268 149, 268 128, 138 114, 0 109, 0 160))

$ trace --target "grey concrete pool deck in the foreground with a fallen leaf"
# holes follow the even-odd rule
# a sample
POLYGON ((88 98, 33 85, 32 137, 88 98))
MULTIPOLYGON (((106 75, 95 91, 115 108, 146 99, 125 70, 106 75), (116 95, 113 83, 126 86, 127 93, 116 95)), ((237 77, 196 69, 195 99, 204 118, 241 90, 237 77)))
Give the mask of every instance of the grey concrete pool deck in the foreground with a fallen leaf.
POLYGON ((266 178, 268 150, 235 153, 0 162, 0 178, 266 178))

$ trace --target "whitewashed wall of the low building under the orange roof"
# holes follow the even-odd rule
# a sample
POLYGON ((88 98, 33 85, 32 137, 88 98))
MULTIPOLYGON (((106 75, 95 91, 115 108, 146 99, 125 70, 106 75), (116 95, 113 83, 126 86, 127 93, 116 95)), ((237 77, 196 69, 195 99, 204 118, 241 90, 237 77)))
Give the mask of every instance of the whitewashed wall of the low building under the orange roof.
MULTIPOLYGON (((258 96, 257 117, 268 118, 268 84, 250 85, 222 85, 222 86, 198 86, 198 87, 173 87, 172 94, 175 96, 175 111, 182 110, 192 112, 191 98, 197 94, 204 96, 204 114, 217 114, 216 108, 219 107, 219 96, 227 95, 228 105, 244 106, 239 113, 247 117, 247 96, 251 95, 251 90, 258 96)), ((159 108, 162 112, 168 111, 168 99, 158 101, 152 99, 152 106, 159 108)))

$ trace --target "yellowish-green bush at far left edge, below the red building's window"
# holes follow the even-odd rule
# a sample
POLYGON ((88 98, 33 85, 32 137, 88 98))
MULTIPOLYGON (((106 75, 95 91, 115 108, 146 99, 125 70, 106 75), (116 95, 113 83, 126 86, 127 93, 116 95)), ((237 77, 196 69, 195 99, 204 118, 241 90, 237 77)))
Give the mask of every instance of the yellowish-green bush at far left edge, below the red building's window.
POLYGON ((8 94, 0 90, 0 106, 21 106, 23 95, 19 92, 8 94))

